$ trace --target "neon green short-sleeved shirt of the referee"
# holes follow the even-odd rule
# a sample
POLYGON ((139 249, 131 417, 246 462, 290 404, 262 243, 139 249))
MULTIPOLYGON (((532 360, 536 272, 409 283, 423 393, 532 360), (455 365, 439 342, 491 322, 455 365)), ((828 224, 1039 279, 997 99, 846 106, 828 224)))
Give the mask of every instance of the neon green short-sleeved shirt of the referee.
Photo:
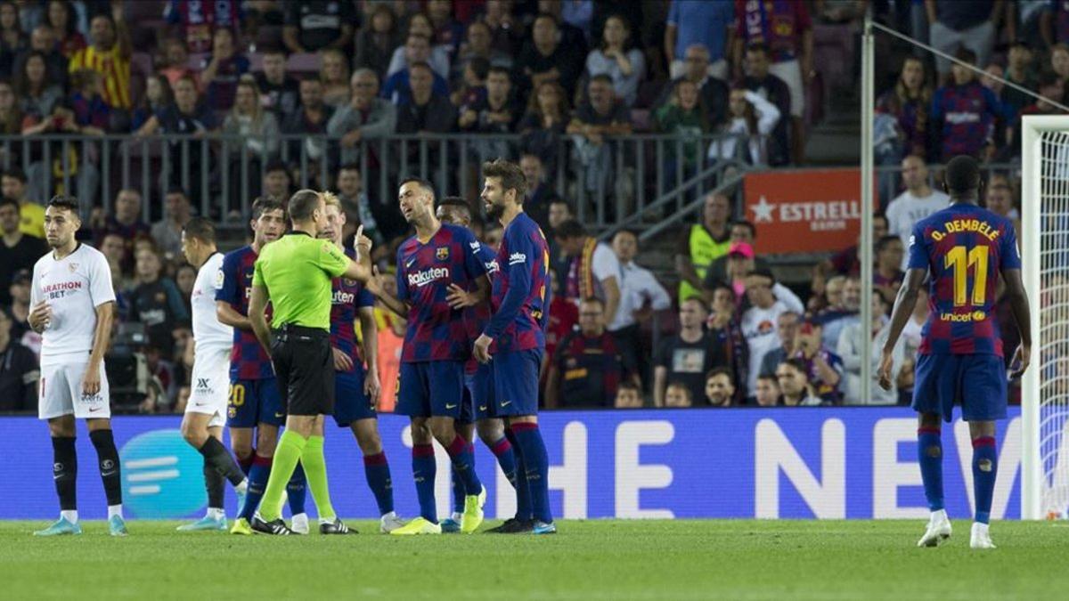
POLYGON ((267 288, 272 327, 295 324, 330 329, 330 280, 348 267, 348 257, 329 240, 289 233, 264 246, 252 286, 267 288))

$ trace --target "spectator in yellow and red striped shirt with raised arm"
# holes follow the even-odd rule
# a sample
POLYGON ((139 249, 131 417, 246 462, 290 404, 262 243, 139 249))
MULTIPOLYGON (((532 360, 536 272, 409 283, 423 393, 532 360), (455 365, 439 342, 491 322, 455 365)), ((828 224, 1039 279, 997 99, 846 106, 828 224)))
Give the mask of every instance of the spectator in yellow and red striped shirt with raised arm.
POLYGON ((122 17, 122 6, 113 11, 118 18, 100 14, 90 21, 93 43, 76 51, 67 65, 71 73, 91 68, 104 78, 104 101, 118 109, 130 108, 130 38, 122 17))

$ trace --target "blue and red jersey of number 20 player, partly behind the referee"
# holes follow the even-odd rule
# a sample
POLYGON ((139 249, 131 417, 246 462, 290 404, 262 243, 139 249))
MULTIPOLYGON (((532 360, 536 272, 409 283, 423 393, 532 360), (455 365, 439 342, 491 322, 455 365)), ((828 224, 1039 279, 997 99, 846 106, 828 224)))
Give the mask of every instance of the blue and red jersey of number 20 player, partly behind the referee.
MULTIPOLYGON (((222 275, 216 287, 215 299, 226 300, 235 311, 249 314, 249 295, 252 293, 252 269, 259 255, 251 246, 244 246, 228 252, 222 258, 222 275)), ((270 304, 267 305, 267 322, 270 323, 270 304)), ((231 380, 263 380, 275 377, 270 357, 257 340, 251 329, 234 328, 234 346, 230 351, 231 380)))

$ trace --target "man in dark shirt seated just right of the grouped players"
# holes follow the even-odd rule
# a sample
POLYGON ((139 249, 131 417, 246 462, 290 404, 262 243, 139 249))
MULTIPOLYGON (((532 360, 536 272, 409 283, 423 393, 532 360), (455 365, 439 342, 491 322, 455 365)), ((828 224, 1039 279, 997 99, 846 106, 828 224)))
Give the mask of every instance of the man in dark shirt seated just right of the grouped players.
POLYGON ((635 349, 605 330, 601 300, 583 300, 578 329, 564 337, 549 363, 545 406, 610 407, 625 380, 639 384, 635 349))

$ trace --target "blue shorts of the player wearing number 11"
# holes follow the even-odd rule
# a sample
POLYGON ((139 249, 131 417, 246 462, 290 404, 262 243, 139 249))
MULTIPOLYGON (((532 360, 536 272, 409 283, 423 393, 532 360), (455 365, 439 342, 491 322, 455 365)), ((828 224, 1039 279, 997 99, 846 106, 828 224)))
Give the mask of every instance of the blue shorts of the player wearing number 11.
POLYGON ((1006 419, 1006 364, 997 355, 917 355, 913 410, 949 422, 1006 419))

